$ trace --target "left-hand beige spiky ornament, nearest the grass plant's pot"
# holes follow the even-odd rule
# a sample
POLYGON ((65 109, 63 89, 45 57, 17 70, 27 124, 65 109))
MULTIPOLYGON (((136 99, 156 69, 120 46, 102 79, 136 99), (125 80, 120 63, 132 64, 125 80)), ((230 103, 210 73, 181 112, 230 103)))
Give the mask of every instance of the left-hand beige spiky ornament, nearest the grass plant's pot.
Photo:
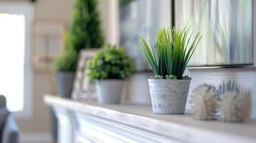
POLYGON ((194 104, 194 118, 214 119, 217 110, 217 90, 210 84, 202 84, 194 89, 191 102, 194 104))

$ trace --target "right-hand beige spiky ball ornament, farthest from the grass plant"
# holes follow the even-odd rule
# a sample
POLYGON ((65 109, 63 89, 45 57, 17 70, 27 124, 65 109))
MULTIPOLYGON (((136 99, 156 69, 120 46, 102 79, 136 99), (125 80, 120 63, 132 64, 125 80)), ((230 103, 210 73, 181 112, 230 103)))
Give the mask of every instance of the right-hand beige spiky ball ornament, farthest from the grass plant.
POLYGON ((237 90, 225 92, 220 96, 219 109, 222 120, 226 122, 243 122, 250 117, 250 92, 237 90))

